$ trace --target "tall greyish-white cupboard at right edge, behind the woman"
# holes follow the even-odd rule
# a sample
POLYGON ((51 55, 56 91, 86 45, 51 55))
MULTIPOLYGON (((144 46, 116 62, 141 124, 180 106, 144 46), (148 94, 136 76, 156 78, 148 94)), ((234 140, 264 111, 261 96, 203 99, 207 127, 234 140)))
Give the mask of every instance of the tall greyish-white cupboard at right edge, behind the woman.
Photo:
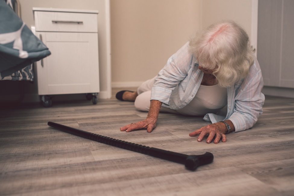
POLYGON ((294 1, 258 1, 257 58, 270 87, 294 88, 294 1))

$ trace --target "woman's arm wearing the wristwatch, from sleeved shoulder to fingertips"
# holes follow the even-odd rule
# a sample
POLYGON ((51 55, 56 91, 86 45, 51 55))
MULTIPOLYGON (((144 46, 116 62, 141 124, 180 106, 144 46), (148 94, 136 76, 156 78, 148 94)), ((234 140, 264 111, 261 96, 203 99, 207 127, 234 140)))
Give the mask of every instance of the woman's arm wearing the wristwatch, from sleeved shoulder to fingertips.
MULTIPOLYGON (((261 93, 263 87, 263 79, 261 71, 256 60, 255 64, 250 68, 249 76, 245 78, 239 87, 234 99, 234 105, 231 105, 229 119, 225 120, 229 124, 230 132, 243 131, 251 128, 262 113, 262 105, 264 104, 264 95, 261 93)), ((222 122, 216 122, 202 127, 192 133, 190 136, 197 136, 198 141, 202 141, 204 136, 209 134, 206 142, 210 143, 215 136, 214 143, 218 143, 220 138, 226 141, 226 126, 222 122)))

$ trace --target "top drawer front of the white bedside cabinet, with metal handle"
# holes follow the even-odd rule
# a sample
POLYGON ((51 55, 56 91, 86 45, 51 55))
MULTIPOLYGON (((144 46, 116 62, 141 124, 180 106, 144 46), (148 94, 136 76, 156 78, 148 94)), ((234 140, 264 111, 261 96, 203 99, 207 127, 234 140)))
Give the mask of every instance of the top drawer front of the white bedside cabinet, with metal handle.
POLYGON ((98 32, 96 13, 34 11, 36 31, 98 32))

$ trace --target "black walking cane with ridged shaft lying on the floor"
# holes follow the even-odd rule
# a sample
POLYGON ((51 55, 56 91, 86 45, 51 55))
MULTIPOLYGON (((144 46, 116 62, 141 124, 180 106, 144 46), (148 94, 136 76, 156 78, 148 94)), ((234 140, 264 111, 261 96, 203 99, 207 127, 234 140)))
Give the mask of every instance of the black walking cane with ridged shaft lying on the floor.
POLYGON ((209 152, 206 152, 205 154, 202 154, 202 155, 186 155, 186 154, 171 152, 168 150, 162 150, 159 148, 142 146, 142 145, 134 144, 127 141, 117 140, 114 138, 109 138, 103 135, 98 135, 88 131, 83 131, 80 129, 61 125, 55 122, 48 122, 48 125, 60 131, 74 134, 83 138, 98 141, 98 142, 112 145, 119 148, 124 148, 134 152, 147 154, 147 155, 154 156, 160 159, 165 159, 172 162, 181 163, 181 164, 184 164, 185 167, 189 170, 195 170, 198 166, 206 165, 206 164, 212 163, 213 161, 213 154, 209 152))

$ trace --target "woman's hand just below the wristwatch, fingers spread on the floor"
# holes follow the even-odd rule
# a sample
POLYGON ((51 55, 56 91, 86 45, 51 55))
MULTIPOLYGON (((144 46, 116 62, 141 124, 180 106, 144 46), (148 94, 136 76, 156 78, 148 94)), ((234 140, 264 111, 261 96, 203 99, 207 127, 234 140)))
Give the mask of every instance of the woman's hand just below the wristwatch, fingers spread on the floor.
POLYGON ((206 139, 206 143, 209 144, 214 138, 214 144, 217 144, 220 139, 222 142, 226 142, 226 132, 226 125, 222 122, 217 122, 201 127, 200 129, 190 133, 189 136, 194 137, 199 135, 197 141, 202 141, 204 136, 209 134, 206 139))

